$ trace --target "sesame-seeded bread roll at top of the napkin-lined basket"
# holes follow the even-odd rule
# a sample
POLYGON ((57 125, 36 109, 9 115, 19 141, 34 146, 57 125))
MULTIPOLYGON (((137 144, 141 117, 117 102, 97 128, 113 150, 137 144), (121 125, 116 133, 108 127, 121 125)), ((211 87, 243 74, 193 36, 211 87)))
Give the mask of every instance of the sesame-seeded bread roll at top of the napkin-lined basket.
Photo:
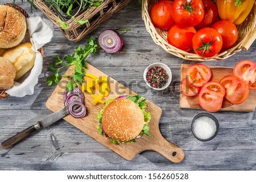
POLYGON ((0 48, 12 48, 24 39, 26 18, 13 7, 0 5, 0 48))

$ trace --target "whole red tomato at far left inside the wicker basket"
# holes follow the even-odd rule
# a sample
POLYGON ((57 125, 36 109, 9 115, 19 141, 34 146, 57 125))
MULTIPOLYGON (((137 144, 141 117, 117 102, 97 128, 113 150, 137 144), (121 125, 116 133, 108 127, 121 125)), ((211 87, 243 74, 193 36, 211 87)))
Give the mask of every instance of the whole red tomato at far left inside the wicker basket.
POLYGON ((160 29, 169 29, 174 25, 172 19, 172 1, 159 1, 156 2, 150 11, 150 18, 154 26, 160 29))

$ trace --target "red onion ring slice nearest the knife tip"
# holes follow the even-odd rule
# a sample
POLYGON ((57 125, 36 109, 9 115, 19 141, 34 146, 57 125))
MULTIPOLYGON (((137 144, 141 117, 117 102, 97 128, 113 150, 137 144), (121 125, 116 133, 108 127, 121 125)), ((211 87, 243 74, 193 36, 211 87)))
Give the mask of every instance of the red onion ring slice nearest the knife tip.
POLYGON ((81 118, 86 115, 85 105, 82 104, 80 101, 76 101, 76 100, 69 103, 68 111, 69 111, 69 114, 75 118, 81 118))

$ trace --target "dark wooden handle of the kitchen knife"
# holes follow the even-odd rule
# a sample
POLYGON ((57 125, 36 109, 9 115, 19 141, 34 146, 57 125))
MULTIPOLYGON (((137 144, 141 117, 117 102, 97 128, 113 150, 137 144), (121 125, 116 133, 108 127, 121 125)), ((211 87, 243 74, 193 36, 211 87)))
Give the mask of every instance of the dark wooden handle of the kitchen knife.
POLYGON ((15 143, 21 141, 23 138, 29 136, 31 133, 35 132, 36 127, 32 125, 27 129, 24 129, 22 132, 17 133, 15 136, 6 139, 6 141, 2 142, 3 149, 8 149, 10 146, 13 146, 15 143))

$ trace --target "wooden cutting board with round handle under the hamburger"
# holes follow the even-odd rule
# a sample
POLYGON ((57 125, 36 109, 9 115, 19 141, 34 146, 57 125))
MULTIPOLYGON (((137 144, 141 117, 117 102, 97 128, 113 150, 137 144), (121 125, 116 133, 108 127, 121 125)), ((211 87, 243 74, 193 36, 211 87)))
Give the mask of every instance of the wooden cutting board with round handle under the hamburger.
MULTIPOLYGON (((71 75, 71 73, 72 67, 69 67, 65 74, 71 75)), ((106 75, 89 64, 88 69, 86 69, 86 73, 94 74, 97 77, 106 75)), ((46 102, 46 107, 52 112, 56 112, 64 107, 63 92, 65 90, 66 82, 67 78, 61 79, 61 81, 53 91, 52 95, 46 102)), ((108 77, 108 84, 110 86, 111 92, 110 95, 105 98, 105 100, 110 98, 117 98, 120 95, 136 95, 135 92, 129 90, 111 77, 108 77)), ((147 137, 146 135, 144 135, 142 136, 142 138, 137 139, 135 143, 130 143, 129 145, 115 145, 110 142, 108 138, 104 137, 102 134, 99 134, 97 131, 98 120, 96 118, 96 115, 104 107, 104 104, 93 105, 90 103, 93 99, 89 96, 88 92, 85 92, 84 95, 85 106, 88 112, 86 116, 83 118, 73 118, 71 115, 68 115, 64 117, 64 120, 68 121, 76 128, 80 129, 82 132, 88 134, 88 136, 96 139, 98 142, 102 143, 103 145, 127 160, 132 160, 137 154, 141 153, 144 150, 155 150, 174 163, 179 163, 183 160, 183 150, 176 145, 168 142, 166 139, 163 138, 162 134, 160 133, 159 119, 162 115, 162 109, 155 104, 151 103, 148 100, 146 101, 147 111, 151 113, 151 121, 148 123, 150 127, 149 133, 151 137, 147 137)))

